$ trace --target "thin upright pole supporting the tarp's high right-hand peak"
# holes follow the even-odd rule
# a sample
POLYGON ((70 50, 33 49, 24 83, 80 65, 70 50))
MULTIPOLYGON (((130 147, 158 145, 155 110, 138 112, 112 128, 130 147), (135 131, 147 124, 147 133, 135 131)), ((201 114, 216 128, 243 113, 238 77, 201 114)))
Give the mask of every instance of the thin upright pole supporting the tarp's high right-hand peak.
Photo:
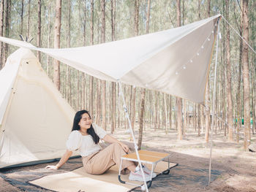
POLYGON ((218 47, 219 47, 219 19, 218 23, 218 30, 217 30, 217 47, 216 47, 216 58, 215 58, 215 72, 214 72, 214 100, 212 103, 212 113, 211 113, 211 150, 210 150, 210 163, 209 163, 209 175, 208 175, 208 185, 211 183, 211 153, 212 153, 212 134, 213 134, 213 127, 214 127, 214 114, 215 114, 215 93, 216 93, 216 76, 217 76, 217 58, 218 58, 218 47))

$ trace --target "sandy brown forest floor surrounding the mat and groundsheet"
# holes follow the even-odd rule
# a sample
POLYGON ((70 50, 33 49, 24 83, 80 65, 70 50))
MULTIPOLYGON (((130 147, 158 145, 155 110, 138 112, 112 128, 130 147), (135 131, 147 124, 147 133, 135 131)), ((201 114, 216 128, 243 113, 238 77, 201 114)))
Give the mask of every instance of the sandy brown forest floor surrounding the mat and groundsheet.
MULTIPOLYGON (((127 130, 116 130, 113 134, 114 137, 130 142, 130 134, 127 130)), ((235 137, 235 135, 234 135, 235 137)), ((242 135, 241 135, 242 137, 242 135)), ((138 139, 138 131, 135 131, 135 138, 138 139)), ((143 131, 143 150, 155 150, 170 153, 170 161, 178 163, 176 168, 171 169, 170 176, 178 179, 178 176, 187 176, 187 180, 180 177, 179 181, 183 183, 169 183, 172 185, 165 185, 156 181, 156 185, 152 184, 150 191, 242 191, 242 192, 256 192, 256 153, 245 152, 243 150, 242 138, 239 143, 227 142, 227 139, 221 134, 213 134, 213 150, 212 150, 212 170, 219 172, 220 174, 215 177, 215 180, 210 186, 207 185, 208 181, 195 182, 191 181, 191 176, 195 177, 195 169, 199 170, 198 176, 208 177, 209 166, 209 154, 210 144, 204 142, 204 135, 198 136, 195 131, 190 129, 184 136, 183 140, 178 141, 175 130, 171 130, 168 134, 165 131, 158 129, 154 131, 154 128, 146 128, 143 131), (192 172, 194 171, 194 172, 192 172), (177 184, 177 185, 176 185, 177 184)), ((252 135, 252 143, 256 142, 256 136, 252 135)), ((132 146, 132 143, 129 143, 132 146)), ((77 160, 73 160, 72 164, 77 160)), ((52 163, 56 164, 56 163, 52 163)), ((8 182, 8 175, 20 172, 20 170, 26 170, 33 172, 36 169, 44 168, 44 164, 37 166, 26 166, 19 169, 11 169, 8 171, 0 171, 0 191, 26 191, 24 188, 20 188, 19 185, 15 185, 8 182), (10 173, 11 172, 11 173, 10 173)), ((75 166, 75 165, 74 165, 75 166)), ((58 172, 64 172, 68 170, 66 164, 58 172)), ((43 171, 42 171, 43 172, 43 171)), ((31 176, 32 177, 32 176, 31 176)), ((198 177, 198 178, 200 178, 198 177)), ((162 178, 162 182, 165 181, 165 177, 162 178)), ((168 177, 168 180, 170 178, 168 177)), ((47 191, 37 187, 31 187, 28 191, 47 191)))

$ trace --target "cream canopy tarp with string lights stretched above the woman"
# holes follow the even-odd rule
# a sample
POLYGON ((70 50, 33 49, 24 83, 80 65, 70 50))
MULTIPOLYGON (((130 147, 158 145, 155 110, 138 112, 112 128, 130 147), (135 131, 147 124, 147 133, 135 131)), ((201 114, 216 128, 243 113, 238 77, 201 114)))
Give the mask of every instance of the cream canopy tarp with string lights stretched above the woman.
POLYGON ((220 16, 87 47, 47 49, 4 37, 0 41, 42 51, 101 80, 119 80, 203 103, 220 16))

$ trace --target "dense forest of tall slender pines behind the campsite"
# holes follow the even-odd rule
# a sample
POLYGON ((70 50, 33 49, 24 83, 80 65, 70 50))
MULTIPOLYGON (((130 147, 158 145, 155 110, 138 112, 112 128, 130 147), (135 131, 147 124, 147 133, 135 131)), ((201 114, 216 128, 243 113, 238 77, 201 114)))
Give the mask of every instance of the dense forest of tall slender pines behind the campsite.
MULTIPOLYGON (((186 137, 190 129, 198 135, 205 134, 208 142, 212 128, 229 141, 242 140, 244 150, 248 150, 256 126, 256 53, 253 51, 256 49, 256 1, 1 0, 0 5, 0 36, 20 39, 22 35, 37 47, 54 48, 96 45, 222 14, 233 28, 221 20, 215 109, 215 57, 210 65, 205 104, 131 85, 122 87, 132 128, 139 129, 139 147, 143 129, 162 129, 165 134, 174 129, 178 139, 186 137)), ((0 69, 15 49, 17 47, 0 42, 0 69)), ((98 80, 48 55, 37 53, 37 57, 75 111, 89 110, 94 121, 111 133, 116 128, 128 128, 116 82, 98 80)))

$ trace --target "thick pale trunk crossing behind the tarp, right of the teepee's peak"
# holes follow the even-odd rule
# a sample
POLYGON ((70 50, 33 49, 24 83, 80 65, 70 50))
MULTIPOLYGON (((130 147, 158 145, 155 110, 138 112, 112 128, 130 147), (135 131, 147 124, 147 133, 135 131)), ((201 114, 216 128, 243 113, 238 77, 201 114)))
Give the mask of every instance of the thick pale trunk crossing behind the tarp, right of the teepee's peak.
MULTIPOLYGON (((54 28, 54 48, 59 49, 61 45, 61 0, 56 0, 56 18, 54 28)), ((60 90, 60 62, 56 59, 53 60, 54 65, 54 84, 60 90)))

